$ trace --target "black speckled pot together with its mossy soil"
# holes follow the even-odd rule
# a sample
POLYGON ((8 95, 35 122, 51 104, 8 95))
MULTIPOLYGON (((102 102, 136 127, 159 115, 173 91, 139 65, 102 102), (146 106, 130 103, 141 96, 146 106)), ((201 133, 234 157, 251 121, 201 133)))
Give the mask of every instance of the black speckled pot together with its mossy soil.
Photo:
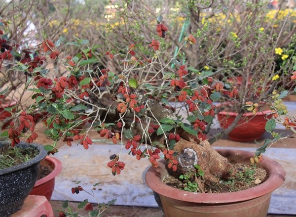
POLYGON ((39 162, 47 155, 42 145, 0 142, 0 216, 20 210, 37 180, 39 162))

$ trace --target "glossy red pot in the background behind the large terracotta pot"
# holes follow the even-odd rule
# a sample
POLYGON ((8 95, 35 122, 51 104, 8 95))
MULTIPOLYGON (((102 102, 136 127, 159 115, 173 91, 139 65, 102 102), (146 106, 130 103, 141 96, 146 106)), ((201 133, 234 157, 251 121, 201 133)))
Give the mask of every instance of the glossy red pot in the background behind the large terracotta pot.
MULTIPOLYGON (((227 129, 234 121, 237 113, 222 111, 217 114, 218 121, 223 129, 227 129)), ((271 110, 257 112, 254 116, 252 112, 243 114, 229 134, 229 139, 233 141, 248 142, 260 139, 265 132, 265 124, 272 117, 271 110)))

